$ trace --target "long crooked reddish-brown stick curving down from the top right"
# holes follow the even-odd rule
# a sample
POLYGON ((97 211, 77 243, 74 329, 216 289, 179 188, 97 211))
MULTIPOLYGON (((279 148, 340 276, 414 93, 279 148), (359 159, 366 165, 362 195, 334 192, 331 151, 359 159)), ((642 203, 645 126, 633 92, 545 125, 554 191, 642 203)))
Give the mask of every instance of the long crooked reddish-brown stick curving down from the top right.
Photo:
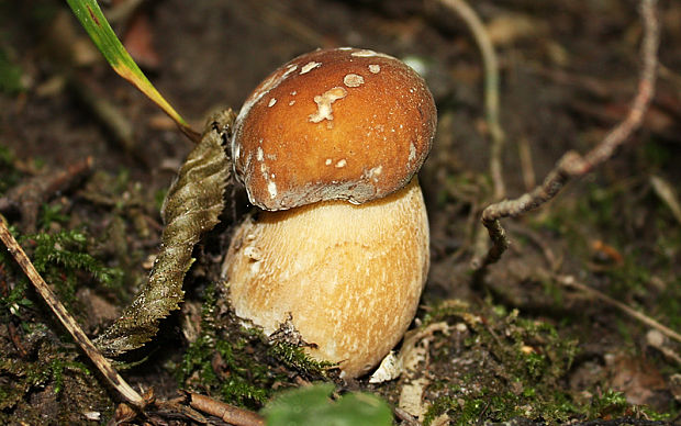
POLYGON ((548 173, 542 186, 515 200, 504 200, 489 205, 482 211, 482 224, 487 227, 493 245, 483 259, 476 258, 471 261, 472 268, 478 273, 482 273, 489 265, 498 261, 506 248, 509 248, 509 238, 506 238, 505 232, 501 226, 500 218, 515 217, 552 199, 570 179, 581 177, 595 166, 610 159, 615 149, 640 126, 655 91, 657 49, 660 40, 656 3, 657 0, 641 1, 640 14, 644 24, 644 40, 641 43, 643 67, 638 81, 638 91, 627 116, 584 157, 572 150, 566 153, 558 160, 554 170, 548 173))

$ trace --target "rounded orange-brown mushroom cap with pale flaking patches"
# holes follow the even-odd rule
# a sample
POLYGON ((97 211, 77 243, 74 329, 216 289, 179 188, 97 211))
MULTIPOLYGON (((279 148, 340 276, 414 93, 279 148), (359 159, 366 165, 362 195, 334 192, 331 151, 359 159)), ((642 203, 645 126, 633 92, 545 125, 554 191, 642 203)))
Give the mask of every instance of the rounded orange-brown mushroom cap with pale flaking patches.
POLYGON ((234 168, 261 209, 359 204, 411 180, 436 121, 433 96, 404 63, 367 49, 319 49, 281 66, 246 100, 234 168))

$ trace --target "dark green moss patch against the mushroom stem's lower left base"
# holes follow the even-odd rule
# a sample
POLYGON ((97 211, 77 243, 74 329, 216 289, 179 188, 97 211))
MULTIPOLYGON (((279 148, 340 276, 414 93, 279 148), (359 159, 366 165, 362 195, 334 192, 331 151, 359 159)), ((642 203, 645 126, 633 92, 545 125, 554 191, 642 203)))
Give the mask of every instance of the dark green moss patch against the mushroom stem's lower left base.
MULTIPOLYGON (((180 386, 221 395, 256 410, 275 389, 294 385, 294 378, 328 379, 330 362, 310 358, 301 347, 269 339, 257 328, 244 327, 231 312, 219 309, 215 284, 205 288, 201 333, 175 369, 180 386)), ((220 302, 223 302, 220 299, 220 302)))

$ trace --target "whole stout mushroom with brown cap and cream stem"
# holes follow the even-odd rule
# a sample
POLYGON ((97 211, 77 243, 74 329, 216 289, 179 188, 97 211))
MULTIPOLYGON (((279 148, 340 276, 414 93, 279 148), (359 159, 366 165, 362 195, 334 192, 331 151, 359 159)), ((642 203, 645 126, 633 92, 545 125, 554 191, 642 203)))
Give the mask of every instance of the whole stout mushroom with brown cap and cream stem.
POLYGON ((414 175, 435 134, 424 80, 391 56, 317 49, 284 64, 235 123, 235 176, 263 209, 235 232, 223 274, 235 314, 292 326, 343 377, 375 367, 413 320, 428 223, 414 175))

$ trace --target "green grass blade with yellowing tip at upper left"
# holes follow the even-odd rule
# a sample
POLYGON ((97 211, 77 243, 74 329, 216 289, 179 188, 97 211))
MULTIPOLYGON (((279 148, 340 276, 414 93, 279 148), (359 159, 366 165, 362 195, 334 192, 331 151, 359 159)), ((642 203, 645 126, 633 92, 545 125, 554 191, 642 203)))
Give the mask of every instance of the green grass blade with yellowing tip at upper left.
POLYGON ((189 124, 175 111, 175 109, 160 96, 158 90, 142 72, 137 64, 130 56, 123 44, 119 41, 115 33, 109 25, 107 18, 97 4, 96 0, 66 0, 71 8, 78 21, 92 38, 92 42, 104 55, 114 71, 139 91, 146 94, 154 103, 156 103, 166 114, 168 114, 189 138, 198 142, 200 136, 193 131, 189 124))

